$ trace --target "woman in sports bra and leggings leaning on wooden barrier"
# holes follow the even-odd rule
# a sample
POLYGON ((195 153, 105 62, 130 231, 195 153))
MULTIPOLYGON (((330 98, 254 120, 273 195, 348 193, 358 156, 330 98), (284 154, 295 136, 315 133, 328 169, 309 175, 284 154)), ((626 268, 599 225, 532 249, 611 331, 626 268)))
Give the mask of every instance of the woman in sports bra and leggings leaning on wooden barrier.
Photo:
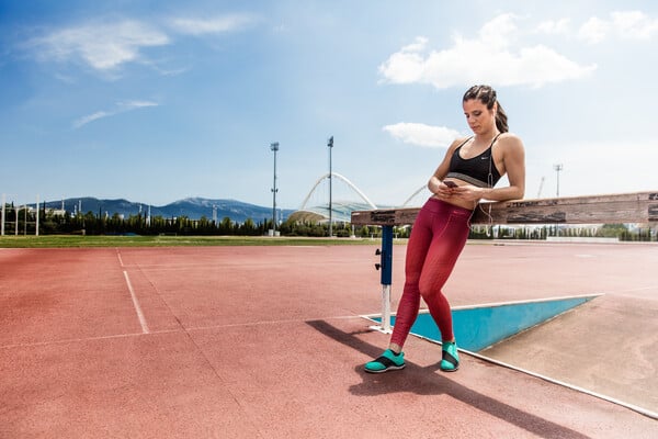
POLYGON ((405 266, 405 289, 388 349, 365 364, 381 373, 405 368, 402 346, 424 300, 441 330, 441 370, 460 367, 450 304, 442 289, 457 261, 470 227, 470 216, 481 199, 518 200, 525 191, 525 153, 521 139, 508 132, 507 115, 488 86, 474 86, 462 101, 474 135, 447 148, 428 182, 432 196, 418 213, 405 266), (494 189, 507 173, 510 185, 494 189))

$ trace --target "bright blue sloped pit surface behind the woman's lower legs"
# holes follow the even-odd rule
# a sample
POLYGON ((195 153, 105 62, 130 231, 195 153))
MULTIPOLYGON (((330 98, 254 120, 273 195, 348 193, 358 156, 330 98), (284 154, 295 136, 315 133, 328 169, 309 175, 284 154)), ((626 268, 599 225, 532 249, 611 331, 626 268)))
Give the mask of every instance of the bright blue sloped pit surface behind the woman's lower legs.
MULTIPOLYGON (((597 295, 453 309, 457 346, 477 352, 594 297, 597 295)), ((392 316, 390 323, 395 325, 395 316, 392 316)), ((411 333, 441 341, 441 331, 429 313, 418 315, 411 333)))

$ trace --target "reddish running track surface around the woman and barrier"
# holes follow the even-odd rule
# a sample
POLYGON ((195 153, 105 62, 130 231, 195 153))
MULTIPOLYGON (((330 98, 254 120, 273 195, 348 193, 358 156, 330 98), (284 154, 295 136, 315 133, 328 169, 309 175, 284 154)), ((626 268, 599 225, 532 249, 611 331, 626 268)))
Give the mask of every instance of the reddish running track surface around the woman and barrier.
MULTIPOLYGON (((0 249, 0 437, 658 436, 650 416, 477 358, 441 373, 415 337, 404 371, 363 373, 387 344, 361 317, 379 311, 377 247, 0 249)), ((656 245, 472 244, 445 293, 604 293, 585 327, 568 313, 491 354, 656 410, 656 245)))

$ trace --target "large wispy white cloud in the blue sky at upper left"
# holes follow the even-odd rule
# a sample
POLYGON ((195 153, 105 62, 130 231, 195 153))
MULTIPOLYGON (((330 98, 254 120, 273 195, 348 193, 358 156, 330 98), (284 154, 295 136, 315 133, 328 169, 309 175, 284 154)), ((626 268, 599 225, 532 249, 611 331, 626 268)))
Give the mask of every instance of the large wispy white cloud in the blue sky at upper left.
POLYGON ((140 48, 169 44, 169 37, 138 21, 87 24, 64 29, 31 44, 46 59, 68 61, 80 58, 97 70, 112 70, 140 58, 140 48))

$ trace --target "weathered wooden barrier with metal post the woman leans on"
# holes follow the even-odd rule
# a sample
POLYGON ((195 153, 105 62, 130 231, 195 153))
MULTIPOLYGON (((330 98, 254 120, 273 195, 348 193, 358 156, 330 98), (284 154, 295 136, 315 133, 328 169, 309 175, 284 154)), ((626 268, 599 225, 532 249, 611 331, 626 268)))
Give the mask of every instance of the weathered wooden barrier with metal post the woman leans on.
MULTIPOLYGON (((413 224, 420 207, 352 212, 352 225, 382 226, 382 326, 390 331, 393 227, 413 224)), ((483 202, 472 224, 619 224, 658 222, 658 191, 610 195, 483 202)))

